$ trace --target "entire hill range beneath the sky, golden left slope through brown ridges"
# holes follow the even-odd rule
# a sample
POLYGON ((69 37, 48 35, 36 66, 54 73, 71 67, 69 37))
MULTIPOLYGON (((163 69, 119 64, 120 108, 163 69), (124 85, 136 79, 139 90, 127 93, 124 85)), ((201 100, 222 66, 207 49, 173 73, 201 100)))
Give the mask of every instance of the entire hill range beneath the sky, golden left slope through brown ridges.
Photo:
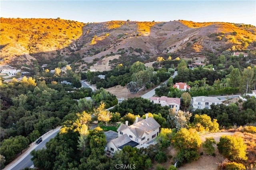
POLYGON ((191 21, 102 23, 62 19, 1 20, 1 63, 13 66, 67 61, 77 71, 101 64, 104 57, 120 55, 111 65, 153 61, 157 56, 205 57, 226 49, 255 49, 256 28, 251 25, 191 21), (255 45, 254 45, 255 46, 255 45), (37 62, 34 60, 37 59, 37 62), (129 60, 130 59, 130 60, 129 60), (31 62, 33 61, 33 62, 31 62), (98 62, 98 63, 97 63, 98 62))

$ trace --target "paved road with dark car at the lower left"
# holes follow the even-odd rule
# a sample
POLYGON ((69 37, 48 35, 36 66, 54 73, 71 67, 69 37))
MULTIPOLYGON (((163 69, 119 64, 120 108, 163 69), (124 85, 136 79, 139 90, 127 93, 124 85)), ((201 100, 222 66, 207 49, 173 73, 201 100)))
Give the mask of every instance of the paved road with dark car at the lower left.
POLYGON ((14 160, 9 165, 4 168, 4 170, 21 170, 26 167, 33 166, 33 162, 31 160, 32 156, 30 155, 30 152, 32 150, 38 150, 45 148, 46 142, 48 142, 51 138, 54 138, 58 132, 60 131, 61 127, 58 127, 54 129, 51 133, 47 134, 46 136, 42 137, 43 141, 40 144, 34 144, 32 145, 25 153, 22 154, 22 157, 14 160))

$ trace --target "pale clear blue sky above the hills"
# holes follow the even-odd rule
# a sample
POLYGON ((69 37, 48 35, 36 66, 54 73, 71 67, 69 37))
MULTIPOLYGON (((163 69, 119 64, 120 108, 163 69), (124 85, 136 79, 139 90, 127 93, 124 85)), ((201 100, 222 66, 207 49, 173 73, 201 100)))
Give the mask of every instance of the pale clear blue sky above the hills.
POLYGON ((78 22, 112 20, 230 22, 256 26, 256 0, 1 0, 4 18, 61 18, 78 22))

